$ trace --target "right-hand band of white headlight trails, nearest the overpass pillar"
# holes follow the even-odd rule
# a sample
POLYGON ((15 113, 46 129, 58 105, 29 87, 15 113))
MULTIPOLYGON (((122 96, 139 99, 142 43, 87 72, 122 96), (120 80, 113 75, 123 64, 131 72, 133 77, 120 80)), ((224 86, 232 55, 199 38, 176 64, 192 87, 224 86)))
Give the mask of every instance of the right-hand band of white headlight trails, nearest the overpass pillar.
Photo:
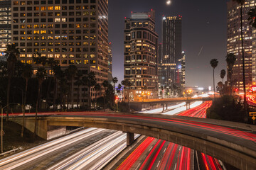
MULTIPOLYGON (((139 135, 135 135, 135 138, 139 135)), ((48 168, 59 169, 101 169, 126 147, 126 133, 115 132, 80 152, 48 168)))

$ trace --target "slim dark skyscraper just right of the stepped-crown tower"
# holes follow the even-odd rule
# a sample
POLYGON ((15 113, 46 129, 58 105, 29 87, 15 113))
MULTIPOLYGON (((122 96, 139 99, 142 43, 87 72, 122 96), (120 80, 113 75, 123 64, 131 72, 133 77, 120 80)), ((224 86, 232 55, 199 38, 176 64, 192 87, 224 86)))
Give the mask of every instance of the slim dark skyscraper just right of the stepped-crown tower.
POLYGON ((161 86, 177 83, 178 60, 181 60, 181 21, 182 16, 162 18, 162 52, 159 62, 161 86))

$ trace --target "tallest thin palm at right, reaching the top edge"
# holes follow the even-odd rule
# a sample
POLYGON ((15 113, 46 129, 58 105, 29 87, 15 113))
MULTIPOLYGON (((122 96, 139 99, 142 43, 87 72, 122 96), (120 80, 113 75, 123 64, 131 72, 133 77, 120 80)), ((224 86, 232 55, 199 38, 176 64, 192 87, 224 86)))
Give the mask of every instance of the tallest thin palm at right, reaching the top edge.
POLYGON ((244 91, 244 105, 245 105, 245 115, 247 115, 247 101, 246 101, 246 90, 245 90, 245 52, 243 44, 243 33, 242 33, 242 6, 245 4, 245 0, 233 0, 240 5, 240 24, 241 24, 241 45, 242 45, 242 84, 244 91))

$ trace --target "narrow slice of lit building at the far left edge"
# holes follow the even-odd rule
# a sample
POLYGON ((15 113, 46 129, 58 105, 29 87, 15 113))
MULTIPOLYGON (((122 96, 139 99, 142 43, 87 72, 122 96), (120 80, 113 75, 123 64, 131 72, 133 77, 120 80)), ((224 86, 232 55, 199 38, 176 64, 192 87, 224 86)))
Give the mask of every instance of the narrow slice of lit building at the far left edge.
POLYGON ((11 42, 11 0, 0 0, 0 60, 6 45, 11 42))

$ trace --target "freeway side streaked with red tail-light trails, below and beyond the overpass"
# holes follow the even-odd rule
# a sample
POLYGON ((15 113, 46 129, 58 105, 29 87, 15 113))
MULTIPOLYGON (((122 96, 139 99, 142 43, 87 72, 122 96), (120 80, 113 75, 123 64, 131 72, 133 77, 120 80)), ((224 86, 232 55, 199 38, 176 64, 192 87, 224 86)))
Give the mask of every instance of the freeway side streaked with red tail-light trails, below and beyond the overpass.
MULTIPOLYGON (((206 109, 210 105, 211 101, 207 101, 178 115, 206 118, 206 109)), ((202 157, 205 169, 221 169, 217 159, 203 153, 202 157)), ((194 169, 194 151, 171 142, 147 137, 117 169, 194 169)))

